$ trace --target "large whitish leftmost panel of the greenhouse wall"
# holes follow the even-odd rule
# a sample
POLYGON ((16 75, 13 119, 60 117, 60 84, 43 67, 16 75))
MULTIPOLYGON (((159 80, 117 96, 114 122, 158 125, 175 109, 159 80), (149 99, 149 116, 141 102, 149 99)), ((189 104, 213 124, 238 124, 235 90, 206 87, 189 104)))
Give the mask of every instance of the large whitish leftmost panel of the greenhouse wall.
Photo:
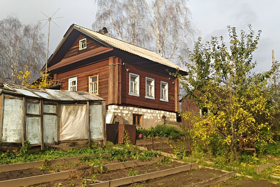
POLYGON ((2 142, 21 142, 22 100, 4 98, 2 142))

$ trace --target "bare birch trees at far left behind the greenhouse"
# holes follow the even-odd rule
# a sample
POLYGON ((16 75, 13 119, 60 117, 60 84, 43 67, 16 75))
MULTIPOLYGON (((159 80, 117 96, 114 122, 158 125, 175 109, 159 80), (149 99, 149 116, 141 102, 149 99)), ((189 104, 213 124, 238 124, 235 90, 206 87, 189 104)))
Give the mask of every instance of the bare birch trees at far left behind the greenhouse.
POLYGON ((24 25, 15 15, 0 20, 0 80, 19 84, 20 71, 38 77, 44 63, 46 43, 41 23, 24 25))

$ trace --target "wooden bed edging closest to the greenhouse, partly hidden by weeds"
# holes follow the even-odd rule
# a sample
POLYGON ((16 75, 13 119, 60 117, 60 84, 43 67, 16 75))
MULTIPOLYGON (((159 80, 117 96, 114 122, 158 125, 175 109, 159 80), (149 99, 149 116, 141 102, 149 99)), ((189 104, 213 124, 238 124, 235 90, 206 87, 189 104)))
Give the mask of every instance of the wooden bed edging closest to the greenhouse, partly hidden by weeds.
MULTIPOLYGON (((88 155, 84 157, 96 157, 100 155, 88 155)), ((110 157, 110 154, 101 154, 101 156, 104 157, 110 157)), ((59 158, 54 160, 49 160, 48 165, 57 165, 62 163, 72 163, 72 162, 79 162, 80 159, 83 157, 69 157, 69 158, 59 158)), ((7 165, 0 165, 0 171, 1 172, 9 172, 9 171, 15 171, 20 169, 31 169, 31 168, 38 168, 41 166, 41 164, 44 161, 35 161, 35 162, 25 162, 25 163, 17 163, 17 164, 7 164, 7 165)))

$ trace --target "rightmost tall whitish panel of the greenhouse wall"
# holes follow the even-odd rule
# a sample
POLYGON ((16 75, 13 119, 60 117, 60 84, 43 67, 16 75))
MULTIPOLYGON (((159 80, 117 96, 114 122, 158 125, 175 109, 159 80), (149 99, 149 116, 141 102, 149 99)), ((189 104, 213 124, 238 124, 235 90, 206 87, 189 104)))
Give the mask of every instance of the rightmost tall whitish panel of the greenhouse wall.
POLYGON ((90 105, 90 139, 103 137, 102 105, 90 105))

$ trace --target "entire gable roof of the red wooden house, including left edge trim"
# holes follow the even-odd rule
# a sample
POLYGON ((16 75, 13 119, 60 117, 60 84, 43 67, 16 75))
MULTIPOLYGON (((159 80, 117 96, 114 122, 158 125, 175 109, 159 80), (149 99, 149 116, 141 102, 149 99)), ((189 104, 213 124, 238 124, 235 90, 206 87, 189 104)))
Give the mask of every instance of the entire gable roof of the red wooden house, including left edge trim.
MULTIPOLYGON (((171 61, 163 58, 162 56, 158 55, 157 53, 155 53, 153 51, 150 51, 148 49, 144 49, 144 48, 139 47, 139 46, 135 46, 133 44, 129 44, 125 41, 122 41, 122 40, 119 40, 119 39, 101 34, 99 32, 89 30, 87 28, 84 28, 84 27, 81 27, 81 26, 75 25, 75 24, 73 24, 69 27, 69 29, 67 30, 66 34, 64 35, 62 41, 57 46, 54 53, 51 55, 50 59, 48 60, 48 62, 50 62, 51 58, 55 55, 57 50, 60 48, 60 46, 63 44, 63 42, 65 41, 65 39, 67 38, 67 36, 69 35, 69 33, 73 29, 76 29, 76 30, 88 35, 92 39, 95 39, 95 40, 99 41, 101 44, 104 44, 105 46, 107 46, 109 48, 117 48, 117 49, 129 52, 129 53, 132 53, 134 55, 146 58, 146 59, 151 60, 153 62, 157 62, 157 63, 160 63, 162 65, 166 65, 168 67, 172 67, 174 69, 179 69, 183 72, 187 72, 186 70, 184 70, 180 66, 172 63, 171 61)), ((45 69, 45 67, 43 67, 43 70, 44 69, 45 69)))

